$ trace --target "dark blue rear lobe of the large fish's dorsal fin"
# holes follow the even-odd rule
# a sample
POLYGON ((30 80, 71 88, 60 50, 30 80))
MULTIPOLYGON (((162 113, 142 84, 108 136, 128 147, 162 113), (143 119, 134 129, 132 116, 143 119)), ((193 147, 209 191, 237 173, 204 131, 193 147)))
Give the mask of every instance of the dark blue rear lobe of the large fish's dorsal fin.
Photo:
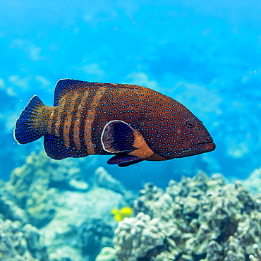
POLYGON ((59 105, 59 102, 63 98, 64 95, 67 95, 69 92, 72 92, 73 90, 78 90, 79 88, 83 88, 83 82, 82 80, 72 80, 72 79, 64 79, 59 80, 56 83, 55 89, 54 89, 54 106, 59 105))

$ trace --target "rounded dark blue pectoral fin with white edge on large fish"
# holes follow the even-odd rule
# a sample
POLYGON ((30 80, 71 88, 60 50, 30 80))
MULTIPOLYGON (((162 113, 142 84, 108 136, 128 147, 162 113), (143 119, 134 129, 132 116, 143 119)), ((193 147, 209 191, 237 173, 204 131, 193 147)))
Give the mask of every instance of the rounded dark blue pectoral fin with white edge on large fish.
POLYGON ((109 121, 102 131, 102 147, 107 152, 131 152, 135 141, 135 130, 124 121, 109 121))

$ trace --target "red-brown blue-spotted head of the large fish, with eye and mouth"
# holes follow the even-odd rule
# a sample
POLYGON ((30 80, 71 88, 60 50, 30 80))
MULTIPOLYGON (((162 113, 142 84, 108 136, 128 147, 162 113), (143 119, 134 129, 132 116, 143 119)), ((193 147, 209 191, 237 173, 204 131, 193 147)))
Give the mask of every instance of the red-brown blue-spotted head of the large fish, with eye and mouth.
POLYGON ((147 143, 155 154, 165 159, 211 152, 216 147, 202 121, 176 101, 171 113, 162 114, 156 133, 147 143))

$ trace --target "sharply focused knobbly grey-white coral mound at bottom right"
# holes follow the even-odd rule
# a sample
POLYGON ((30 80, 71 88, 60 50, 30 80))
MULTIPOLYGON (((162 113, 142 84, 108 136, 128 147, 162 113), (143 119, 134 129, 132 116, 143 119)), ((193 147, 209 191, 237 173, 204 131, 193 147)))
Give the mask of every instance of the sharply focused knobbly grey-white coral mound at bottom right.
POLYGON ((115 230, 117 260, 259 260, 260 198, 202 171, 170 181, 166 192, 147 183, 134 202, 136 217, 115 230))

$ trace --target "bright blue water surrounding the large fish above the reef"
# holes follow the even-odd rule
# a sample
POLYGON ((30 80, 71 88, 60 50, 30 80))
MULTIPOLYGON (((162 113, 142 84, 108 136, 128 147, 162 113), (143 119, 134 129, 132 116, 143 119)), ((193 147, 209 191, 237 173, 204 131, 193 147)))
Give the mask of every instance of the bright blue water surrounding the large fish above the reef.
POLYGON ((97 166, 127 188, 166 186, 198 169, 247 177, 260 167, 260 10, 250 0, 4 1, 0 178, 42 150, 42 140, 18 145, 14 124, 32 95, 51 106, 61 78, 150 87, 183 103, 210 131, 217 149, 207 154, 123 169, 99 157, 97 166))

